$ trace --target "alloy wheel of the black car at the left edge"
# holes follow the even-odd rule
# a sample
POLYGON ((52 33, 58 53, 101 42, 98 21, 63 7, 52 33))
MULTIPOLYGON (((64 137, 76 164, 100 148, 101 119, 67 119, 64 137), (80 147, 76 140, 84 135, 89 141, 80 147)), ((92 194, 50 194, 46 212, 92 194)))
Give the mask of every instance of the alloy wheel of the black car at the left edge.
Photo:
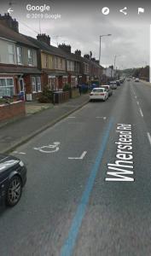
POLYGON ((22 183, 18 175, 12 177, 9 181, 9 186, 6 192, 6 204, 9 207, 14 207, 18 201, 22 192, 22 183))

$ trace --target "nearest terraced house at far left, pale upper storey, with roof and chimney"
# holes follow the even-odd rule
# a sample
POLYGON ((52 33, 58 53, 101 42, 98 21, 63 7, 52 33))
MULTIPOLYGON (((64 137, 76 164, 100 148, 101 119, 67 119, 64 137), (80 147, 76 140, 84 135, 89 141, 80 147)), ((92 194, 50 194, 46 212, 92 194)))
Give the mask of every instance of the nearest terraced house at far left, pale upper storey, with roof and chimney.
POLYGON ((19 33, 16 20, 0 16, 0 97, 25 91, 34 98, 41 93, 37 52, 38 47, 19 33))

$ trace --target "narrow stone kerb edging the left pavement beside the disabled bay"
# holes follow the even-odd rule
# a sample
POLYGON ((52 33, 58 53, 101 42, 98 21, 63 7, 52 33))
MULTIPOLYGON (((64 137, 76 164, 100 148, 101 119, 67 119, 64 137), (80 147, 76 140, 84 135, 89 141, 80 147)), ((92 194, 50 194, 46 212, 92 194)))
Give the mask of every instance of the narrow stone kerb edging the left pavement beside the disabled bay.
POLYGON ((56 123, 58 123, 59 121, 61 121, 61 119, 65 119, 68 115, 70 115, 71 113, 74 113, 76 111, 78 111, 78 109, 83 108, 84 105, 86 105, 89 101, 84 102, 83 104, 81 104, 80 106, 78 106, 78 108, 74 108, 71 111, 68 111, 67 113, 61 115, 59 118, 49 122, 47 125, 44 125, 43 127, 41 127, 40 129, 38 129, 37 131, 32 132, 29 136, 23 137, 20 142, 14 143, 12 146, 9 146, 8 148, 5 148, 4 151, 2 151, 2 154, 9 154, 10 152, 14 151, 15 148, 20 147, 22 144, 27 143, 29 140, 31 140, 33 137, 36 137, 39 133, 45 131, 46 129, 52 127, 53 125, 55 125, 56 123))

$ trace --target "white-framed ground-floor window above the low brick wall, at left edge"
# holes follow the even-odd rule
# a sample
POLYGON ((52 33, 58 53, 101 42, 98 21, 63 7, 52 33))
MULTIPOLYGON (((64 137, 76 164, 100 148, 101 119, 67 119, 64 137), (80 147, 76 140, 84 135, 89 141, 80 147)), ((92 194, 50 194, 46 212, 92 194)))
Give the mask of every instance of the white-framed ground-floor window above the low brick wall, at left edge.
POLYGON ((14 95, 14 80, 0 79, 0 97, 14 95))

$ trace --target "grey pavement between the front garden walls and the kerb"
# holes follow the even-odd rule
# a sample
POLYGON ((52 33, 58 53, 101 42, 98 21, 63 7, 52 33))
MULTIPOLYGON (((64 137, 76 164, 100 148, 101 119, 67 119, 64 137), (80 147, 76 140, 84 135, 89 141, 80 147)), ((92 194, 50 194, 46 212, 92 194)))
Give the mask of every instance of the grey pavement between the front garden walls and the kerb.
POLYGON ((89 95, 82 95, 68 102, 47 108, 36 114, 0 127, 0 153, 9 153, 14 148, 26 143, 38 133, 55 125, 70 113, 82 108, 89 101, 89 95))

